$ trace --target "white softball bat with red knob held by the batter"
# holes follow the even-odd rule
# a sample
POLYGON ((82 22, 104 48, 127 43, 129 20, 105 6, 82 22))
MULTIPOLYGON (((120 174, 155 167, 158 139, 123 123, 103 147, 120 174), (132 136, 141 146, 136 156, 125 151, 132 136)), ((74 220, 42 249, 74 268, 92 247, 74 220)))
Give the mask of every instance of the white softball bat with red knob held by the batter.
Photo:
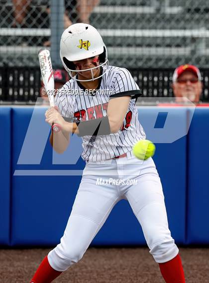
MULTIPOLYGON (((49 97, 49 104, 54 107, 54 75, 51 63, 50 52, 46 48, 42 48, 38 52, 38 58, 41 69, 41 77, 44 88, 49 97)), ((52 125, 52 131, 59 132, 61 127, 58 124, 52 125)))

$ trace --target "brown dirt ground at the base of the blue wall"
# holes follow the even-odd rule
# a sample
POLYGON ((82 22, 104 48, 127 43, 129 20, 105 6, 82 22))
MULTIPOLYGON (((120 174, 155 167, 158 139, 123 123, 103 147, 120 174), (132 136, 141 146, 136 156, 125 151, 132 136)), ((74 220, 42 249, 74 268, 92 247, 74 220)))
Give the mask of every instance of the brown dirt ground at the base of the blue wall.
MULTIPOLYGON (((0 250, 0 283, 29 283, 50 249, 0 250)), ((187 283, 209 283, 209 248, 181 248, 187 283)), ((55 283, 164 283, 147 248, 90 248, 55 283)))

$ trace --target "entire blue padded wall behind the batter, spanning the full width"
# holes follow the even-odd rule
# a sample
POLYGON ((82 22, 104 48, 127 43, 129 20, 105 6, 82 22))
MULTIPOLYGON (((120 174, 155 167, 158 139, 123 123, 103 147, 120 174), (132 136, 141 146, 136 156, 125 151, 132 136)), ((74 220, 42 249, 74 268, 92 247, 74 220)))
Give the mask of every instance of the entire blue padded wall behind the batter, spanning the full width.
MULTIPOLYGON (((1 245, 59 243, 80 184, 79 172, 85 166, 81 158, 76 161, 74 152, 64 159, 52 158, 46 109, 33 110, 0 108, 5 136, 0 139, 1 245), (66 176, 58 176, 59 170, 65 170, 66 176)), ((147 139, 156 145, 153 159, 163 185, 172 236, 180 244, 209 244, 209 108, 195 110, 187 135, 192 112, 184 107, 138 109, 147 139)), ((74 143, 80 146, 80 140, 75 137, 74 143)), ((145 244, 127 201, 116 204, 92 244, 145 244)))

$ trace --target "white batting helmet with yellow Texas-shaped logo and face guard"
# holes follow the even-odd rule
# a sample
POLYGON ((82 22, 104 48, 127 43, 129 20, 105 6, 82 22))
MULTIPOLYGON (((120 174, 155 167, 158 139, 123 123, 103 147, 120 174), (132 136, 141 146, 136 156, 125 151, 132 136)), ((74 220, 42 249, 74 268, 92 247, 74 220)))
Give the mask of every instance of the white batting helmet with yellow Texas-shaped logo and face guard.
POLYGON ((70 25, 62 34, 60 41, 60 57, 62 64, 70 77, 76 81, 94 81, 100 77, 94 78, 93 69, 100 68, 100 66, 108 67, 107 50, 103 42, 102 36, 95 27, 86 23, 76 23, 70 25), (76 70, 73 61, 79 61, 99 55, 100 65, 94 68, 78 71, 76 70), (79 80, 72 76, 72 72, 91 71, 92 79, 79 80))

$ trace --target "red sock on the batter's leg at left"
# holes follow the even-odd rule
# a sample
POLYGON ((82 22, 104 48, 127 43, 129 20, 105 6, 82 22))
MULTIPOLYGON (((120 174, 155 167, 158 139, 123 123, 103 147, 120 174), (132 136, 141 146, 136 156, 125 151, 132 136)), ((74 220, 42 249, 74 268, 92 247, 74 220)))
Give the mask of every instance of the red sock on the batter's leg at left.
POLYGON ((46 256, 39 265, 30 283, 50 283, 61 273, 62 272, 56 271, 50 266, 46 256))

